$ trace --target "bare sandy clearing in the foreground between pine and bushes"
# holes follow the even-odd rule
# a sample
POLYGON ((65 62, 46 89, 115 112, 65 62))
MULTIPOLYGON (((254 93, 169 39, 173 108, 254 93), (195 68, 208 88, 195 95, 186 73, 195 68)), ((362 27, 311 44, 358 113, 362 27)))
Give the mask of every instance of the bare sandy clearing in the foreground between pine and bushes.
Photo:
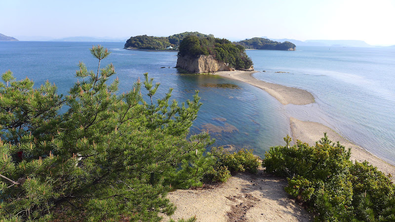
MULTIPOLYGON (((177 206, 171 219, 196 216, 198 222, 307 222, 312 218, 284 191, 286 180, 266 174, 238 173, 225 184, 170 192, 177 206)), ((164 221, 168 221, 165 218, 164 221)))

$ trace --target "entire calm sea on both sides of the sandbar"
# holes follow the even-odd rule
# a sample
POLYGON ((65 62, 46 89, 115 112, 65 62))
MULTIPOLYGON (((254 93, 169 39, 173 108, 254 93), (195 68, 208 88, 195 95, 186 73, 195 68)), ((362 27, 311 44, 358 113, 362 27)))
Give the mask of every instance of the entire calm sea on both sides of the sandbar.
MULTIPOLYGON (((0 42, 0 73, 11 70, 17 79, 28 76, 36 86, 45 80, 67 94, 77 80, 79 61, 97 69, 89 52, 95 42, 0 42)), ((144 73, 161 83, 160 98, 174 88, 179 102, 195 90, 203 106, 191 133, 209 130, 214 146, 253 148, 263 155, 283 145, 290 134, 289 119, 323 123, 368 151, 395 163, 395 49, 298 47, 298 51, 248 50, 256 78, 299 87, 313 93, 316 104, 282 106, 269 94, 248 84, 212 75, 178 73, 176 52, 123 49, 122 43, 102 42, 112 54, 102 62, 115 65, 119 93, 131 89, 144 73), (166 68, 161 68, 166 67, 166 68), (266 71, 266 72, 262 72, 266 71), (288 72, 288 73, 276 73, 288 72), (223 87, 236 84, 239 88, 223 87), (221 87, 222 86, 222 87, 221 87)), ((142 92, 144 93, 144 91, 142 92)))

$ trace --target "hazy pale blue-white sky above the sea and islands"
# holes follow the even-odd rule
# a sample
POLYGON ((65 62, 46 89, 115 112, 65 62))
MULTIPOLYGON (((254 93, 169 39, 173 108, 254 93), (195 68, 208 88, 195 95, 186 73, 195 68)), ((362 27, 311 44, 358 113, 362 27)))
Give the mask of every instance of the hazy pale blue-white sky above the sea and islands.
POLYGON ((0 0, 6 36, 357 39, 395 44, 395 0, 0 0))

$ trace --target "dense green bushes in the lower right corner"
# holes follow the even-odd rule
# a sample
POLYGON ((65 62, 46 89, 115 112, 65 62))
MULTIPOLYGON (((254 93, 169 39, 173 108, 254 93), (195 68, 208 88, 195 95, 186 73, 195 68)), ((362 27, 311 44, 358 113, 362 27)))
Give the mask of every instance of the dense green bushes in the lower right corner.
POLYGON ((395 185, 368 162, 352 162, 350 149, 326 135, 316 146, 298 141, 270 148, 266 171, 285 176, 285 191, 302 201, 317 221, 395 221, 395 185))

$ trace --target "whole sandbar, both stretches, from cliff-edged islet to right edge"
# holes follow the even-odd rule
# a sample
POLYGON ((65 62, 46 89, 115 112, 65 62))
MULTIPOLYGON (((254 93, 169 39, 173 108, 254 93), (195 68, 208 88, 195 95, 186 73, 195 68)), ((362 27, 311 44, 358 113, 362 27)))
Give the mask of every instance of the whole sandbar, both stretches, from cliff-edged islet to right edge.
MULTIPOLYGON (((276 98, 282 105, 294 104, 294 105, 307 105, 315 103, 313 94, 304 89, 283 86, 279 84, 265 82, 256 79, 252 74, 257 73, 256 71, 230 71, 230 72, 217 72, 213 73, 226 78, 239 80, 250 85, 256 86, 260 89, 265 90, 271 96, 276 98)), ((346 148, 351 148, 351 159, 353 161, 362 162, 368 161, 373 166, 376 166, 378 170, 384 174, 395 175, 395 166, 385 161, 384 159, 374 155, 366 149, 357 146, 355 143, 348 141, 344 137, 340 136, 339 133, 333 129, 317 122, 301 121, 292 116, 288 116, 290 120, 290 128, 292 132, 292 139, 294 141, 300 140, 308 143, 309 145, 315 145, 316 141, 323 137, 323 133, 326 132, 329 139, 332 141, 339 141, 346 148)), ((395 182, 395 177, 392 178, 395 182)))

